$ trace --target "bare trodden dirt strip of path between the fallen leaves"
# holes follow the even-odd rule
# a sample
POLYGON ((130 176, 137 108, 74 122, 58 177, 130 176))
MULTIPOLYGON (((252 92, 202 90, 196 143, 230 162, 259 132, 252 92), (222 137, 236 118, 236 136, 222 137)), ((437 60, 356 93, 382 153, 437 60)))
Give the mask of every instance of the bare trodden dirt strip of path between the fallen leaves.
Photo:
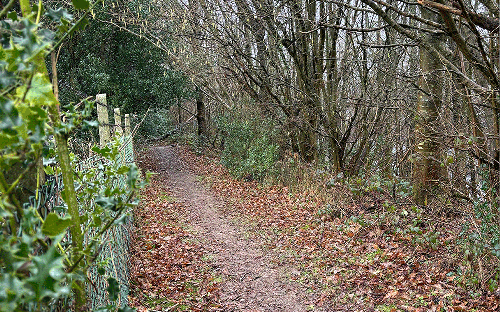
MULTIPOLYGON (((222 276, 219 303, 224 311, 304 312, 310 306, 307 288, 286 280, 292 268, 277 266, 271 251, 244 235, 244 228, 219 210, 224 203, 203 185, 176 155, 176 148, 152 147, 160 175, 183 205, 197 238, 213 256, 213 269, 222 276)), ((314 309, 317 311, 317 307, 314 309)))

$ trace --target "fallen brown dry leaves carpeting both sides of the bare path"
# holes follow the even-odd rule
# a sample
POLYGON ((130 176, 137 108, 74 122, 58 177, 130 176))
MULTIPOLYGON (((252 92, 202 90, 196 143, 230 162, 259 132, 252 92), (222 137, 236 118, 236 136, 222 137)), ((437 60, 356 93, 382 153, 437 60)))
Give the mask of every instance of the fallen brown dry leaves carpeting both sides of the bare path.
MULTIPOLYGON (((406 300, 405 304, 407 305, 398 305, 398 308, 410 312, 424 312, 429 307, 415 308, 411 305, 418 303, 416 298, 420 295, 426 299, 430 298, 432 290, 444 294, 440 298, 446 299, 444 300, 446 302, 449 302, 449 299, 454 296, 459 298, 457 301, 447 303, 449 310, 452 310, 449 307, 450 305, 453 306, 454 310, 458 311, 467 310, 466 307, 471 307, 469 303, 464 303, 463 298, 466 297, 466 294, 463 289, 456 287, 455 277, 446 276, 449 271, 443 268, 444 265, 439 262, 440 259, 434 263, 429 260, 433 256, 438 258, 439 251, 432 253, 432 251, 425 250, 425 255, 423 255, 421 248, 415 249, 408 246, 411 237, 404 235, 387 235, 387 240, 379 239, 378 236, 385 231, 384 228, 363 228, 361 232, 364 233, 366 230, 368 233, 364 235, 358 232, 360 228, 355 223, 350 223, 348 229, 343 226, 338 227, 336 225, 342 225, 345 222, 344 219, 338 217, 330 220, 322 218, 322 222, 315 222, 317 207, 322 206, 323 203, 320 201, 321 198, 318 198, 313 192, 296 191, 292 194, 286 187, 261 187, 255 181, 238 181, 231 178, 227 170, 219 165, 216 159, 207 161, 206 157, 197 156, 189 152, 188 148, 179 147, 180 149, 182 149, 180 152, 184 158, 184 163, 191 170, 196 171, 197 174, 204 176, 211 184, 212 190, 220 198, 231 203, 223 208, 225 213, 231 217, 239 217, 248 220, 249 223, 258 224, 258 233, 252 231, 251 226, 244 225, 244 227, 249 230, 251 239, 261 239, 261 241, 265 241, 264 244, 270 249, 276 250, 277 253, 283 255, 282 264, 278 262, 276 263, 277 266, 283 264, 297 265, 297 267, 303 266, 307 271, 314 271, 314 274, 311 274, 309 279, 300 280, 300 282, 315 288, 322 287, 317 287, 318 283, 330 285, 334 283, 336 287, 339 287, 339 293, 348 293, 350 291, 346 289, 350 288, 356 293, 361 293, 360 296, 364 296, 366 299, 369 298, 370 304, 373 304, 365 308, 354 305, 363 303, 342 302, 339 304, 346 303, 346 305, 341 310, 371 311, 373 306, 382 304, 383 300, 401 299, 406 300), (324 227, 323 225, 320 227, 320 224, 323 224, 324 227), (356 235, 362 237, 363 241, 350 240, 351 237, 356 235), (363 256, 372 252, 373 249, 383 250, 382 255, 379 257, 379 261, 382 263, 361 261, 363 256), (286 257, 286 255, 289 255, 287 250, 292 250, 297 256, 286 257), (317 259, 322 260, 317 261, 317 259), (340 272, 342 272, 343 277, 340 277, 340 272), (393 287, 397 288, 401 294, 398 293, 398 290, 390 290, 393 287)), ((155 165, 157 164, 149 163, 150 167, 155 165)), ((182 211, 188 209, 188 207, 179 203, 166 203, 155 200, 155 198, 160 198, 163 195, 164 185, 161 185, 161 181, 156 181, 151 186, 145 196, 150 206, 150 210, 146 212, 148 214, 146 218, 149 220, 154 221, 154 223, 166 221, 169 224, 172 220, 175 220, 176 213, 184 213, 182 211), (157 216, 162 214, 168 215, 166 220, 158 219, 157 216)), ((376 196, 382 195, 377 194, 376 196)), ((377 198, 376 196, 368 199, 373 203, 373 200, 380 199, 380 197, 377 198)), ((343 208, 346 211, 350 209, 352 211, 360 210, 357 203, 353 203, 352 207, 343 208)), ((369 217, 370 215, 364 211, 364 216, 369 217)), ((186 298, 185 293, 179 293, 178 290, 181 288, 176 283, 185 281, 185 279, 203 280, 204 278, 199 275, 200 263, 196 261, 197 256, 204 255, 203 248, 182 243, 182 240, 177 237, 188 237, 188 234, 182 228, 182 224, 177 224, 175 228, 173 226, 151 226, 151 228, 145 229, 144 241, 154 241, 162 237, 159 244, 163 244, 163 246, 161 248, 141 248, 140 251, 145 254, 145 261, 148 262, 148 265, 140 266, 140 261, 133 262, 134 265, 139 267, 138 269, 143 276, 146 275, 145 269, 147 269, 147 272, 154 272, 154 274, 148 273, 152 285, 146 286, 149 283, 144 280, 145 277, 142 277, 144 285, 142 286, 140 282, 137 283, 141 285, 140 288, 147 288, 151 293, 161 289, 161 295, 168 296, 173 301, 177 300, 179 302, 186 298), (165 239, 165 236, 171 237, 171 239, 165 239), (145 250, 148 251, 145 252, 145 250), (157 274, 164 275, 160 278, 162 281, 166 281, 164 284, 160 285, 158 281, 153 279, 156 278, 157 274)), ((446 233, 446 235, 449 234, 446 233)), ((445 241, 453 240, 453 235, 449 235, 445 239, 445 241)), ((205 291, 209 289, 208 285, 203 282, 199 286, 205 291)), ((213 291, 217 292, 216 285, 213 291)), ((316 306, 322 305, 323 301, 325 305, 330 303, 328 300, 331 298, 331 294, 318 292, 317 295, 322 299, 316 302, 316 306)), ((499 303, 496 296, 495 294, 489 294, 489 296, 483 297, 480 301, 474 303, 473 308, 478 311, 496 310, 499 303)), ((196 294, 194 297, 201 296, 196 294)), ((203 298, 204 300, 205 298, 203 298)), ((189 310, 202 310, 207 306, 204 302, 202 305, 201 303, 189 304, 189 310)), ((208 308, 205 310, 217 310, 216 306, 213 305, 214 309, 208 308)), ((436 307, 431 306, 430 311, 432 312, 435 308, 435 312, 437 312, 440 307, 442 307, 442 301, 436 307)))

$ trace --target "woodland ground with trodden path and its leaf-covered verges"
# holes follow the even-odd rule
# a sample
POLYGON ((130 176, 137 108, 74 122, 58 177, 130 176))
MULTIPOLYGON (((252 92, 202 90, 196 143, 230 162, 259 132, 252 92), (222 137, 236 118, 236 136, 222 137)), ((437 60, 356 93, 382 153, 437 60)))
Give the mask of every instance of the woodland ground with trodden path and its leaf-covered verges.
POLYGON ((236 181, 186 147, 145 148, 138 164, 157 173, 135 210, 138 312, 498 311, 497 291, 471 298, 450 278, 445 250, 390 227, 318 222, 306 194, 236 181))

